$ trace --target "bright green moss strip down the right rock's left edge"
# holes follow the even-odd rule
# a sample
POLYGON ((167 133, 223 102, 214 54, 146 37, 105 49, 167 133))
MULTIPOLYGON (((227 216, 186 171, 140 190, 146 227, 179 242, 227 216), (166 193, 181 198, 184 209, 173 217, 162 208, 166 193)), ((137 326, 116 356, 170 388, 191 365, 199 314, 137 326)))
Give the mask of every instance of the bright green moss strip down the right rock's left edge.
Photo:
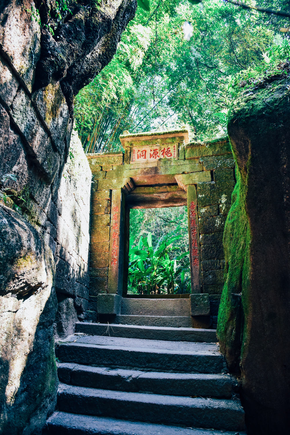
MULTIPOLYGON (((249 164, 249 162, 248 162, 249 164)), ((231 209, 224 228, 224 288, 218 313, 217 337, 229 368, 239 370, 244 336, 244 315, 250 276, 250 228, 245 209, 247 180, 236 170, 231 209), (241 294, 241 295, 240 295, 241 294)))

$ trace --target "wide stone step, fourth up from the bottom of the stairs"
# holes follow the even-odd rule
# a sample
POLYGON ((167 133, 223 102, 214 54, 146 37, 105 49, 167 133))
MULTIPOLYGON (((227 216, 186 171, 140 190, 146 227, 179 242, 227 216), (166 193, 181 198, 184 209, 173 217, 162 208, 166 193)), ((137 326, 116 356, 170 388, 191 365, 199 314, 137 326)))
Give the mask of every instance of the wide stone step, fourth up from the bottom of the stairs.
POLYGON ((59 341, 56 356, 62 362, 159 371, 221 373, 223 368, 217 345, 186 341, 70 335, 59 341))

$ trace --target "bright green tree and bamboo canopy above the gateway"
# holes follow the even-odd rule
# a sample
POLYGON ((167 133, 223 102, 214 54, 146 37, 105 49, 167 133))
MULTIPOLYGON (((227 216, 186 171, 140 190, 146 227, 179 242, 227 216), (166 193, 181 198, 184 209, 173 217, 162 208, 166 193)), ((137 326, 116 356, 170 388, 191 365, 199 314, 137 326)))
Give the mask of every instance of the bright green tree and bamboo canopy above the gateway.
MULTIPOLYGON (((259 6, 290 11, 286 0, 259 6)), ((150 11, 138 7, 113 60, 76 97, 86 153, 119 150, 126 130, 185 124, 191 139, 224 135, 241 81, 246 86, 275 73, 289 57, 289 27, 287 17, 221 0, 151 0, 150 11)))

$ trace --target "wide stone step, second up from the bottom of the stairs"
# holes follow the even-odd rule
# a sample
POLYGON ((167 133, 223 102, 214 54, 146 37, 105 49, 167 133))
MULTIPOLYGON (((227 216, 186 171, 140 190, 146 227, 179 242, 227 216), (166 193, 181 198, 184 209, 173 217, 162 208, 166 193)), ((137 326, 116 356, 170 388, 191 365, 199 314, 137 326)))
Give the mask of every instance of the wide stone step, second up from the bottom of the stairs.
POLYGON ((59 411, 204 428, 244 430, 238 400, 205 399, 59 385, 59 411))

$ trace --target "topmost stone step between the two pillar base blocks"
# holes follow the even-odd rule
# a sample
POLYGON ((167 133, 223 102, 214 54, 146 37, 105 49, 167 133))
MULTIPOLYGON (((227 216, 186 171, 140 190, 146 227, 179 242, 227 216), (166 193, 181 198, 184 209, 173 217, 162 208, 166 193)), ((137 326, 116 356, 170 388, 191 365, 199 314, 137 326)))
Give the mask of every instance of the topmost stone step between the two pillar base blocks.
POLYGON ((190 316, 190 300, 122 298, 121 314, 127 316, 190 316))

